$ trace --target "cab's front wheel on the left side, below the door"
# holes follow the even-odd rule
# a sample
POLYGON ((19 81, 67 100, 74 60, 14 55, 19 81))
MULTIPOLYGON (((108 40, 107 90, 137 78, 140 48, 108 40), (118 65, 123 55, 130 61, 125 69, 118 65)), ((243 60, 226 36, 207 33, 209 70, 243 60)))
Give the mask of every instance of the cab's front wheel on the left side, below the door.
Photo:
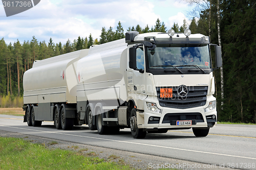
POLYGON ((135 108, 133 108, 131 110, 130 127, 131 127, 131 133, 133 135, 133 138, 136 138, 136 139, 143 139, 143 138, 145 138, 146 131, 143 131, 143 129, 138 129, 137 117, 136 117, 136 109, 135 108))

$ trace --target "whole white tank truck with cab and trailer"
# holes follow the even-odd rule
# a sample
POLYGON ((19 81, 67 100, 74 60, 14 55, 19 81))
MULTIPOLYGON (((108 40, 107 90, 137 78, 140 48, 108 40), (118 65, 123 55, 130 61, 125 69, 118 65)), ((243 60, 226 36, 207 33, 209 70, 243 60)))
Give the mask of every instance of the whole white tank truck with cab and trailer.
POLYGON ((35 61, 24 74, 24 122, 57 129, 87 124, 99 134, 193 129, 217 123, 214 69, 220 47, 202 34, 126 32, 125 39, 35 61), (215 46, 212 68, 210 45, 215 46))

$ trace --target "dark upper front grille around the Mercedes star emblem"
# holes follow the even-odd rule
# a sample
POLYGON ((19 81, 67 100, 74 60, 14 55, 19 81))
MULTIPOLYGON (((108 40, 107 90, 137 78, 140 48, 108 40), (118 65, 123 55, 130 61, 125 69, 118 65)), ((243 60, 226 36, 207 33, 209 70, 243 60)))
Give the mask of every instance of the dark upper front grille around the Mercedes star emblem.
POLYGON ((177 109, 187 109, 199 106, 204 106, 207 100, 208 86, 190 86, 188 88, 188 93, 186 97, 181 97, 178 95, 179 87, 157 87, 157 97, 160 106, 177 108, 177 109), (160 88, 172 88, 173 98, 161 98, 160 88))

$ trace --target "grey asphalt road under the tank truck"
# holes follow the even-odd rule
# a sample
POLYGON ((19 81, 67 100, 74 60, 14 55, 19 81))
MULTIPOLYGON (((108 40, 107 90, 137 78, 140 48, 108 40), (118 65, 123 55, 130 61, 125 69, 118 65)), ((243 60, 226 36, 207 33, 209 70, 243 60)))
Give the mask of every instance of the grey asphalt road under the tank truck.
POLYGON ((120 130, 117 135, 99 135, 86 125, 63 131, 57 130, 53 122, 43 122, 41 127, 29 127, 23 123, 22 116, 0 115, 0 130, 188 160, 216 169, 224 166, 256 169, 254 125, 217 125, 210 129, 206 137, 195 137, 190 129, 147 134, 144 139, 134 139, 130 129, 120 130))

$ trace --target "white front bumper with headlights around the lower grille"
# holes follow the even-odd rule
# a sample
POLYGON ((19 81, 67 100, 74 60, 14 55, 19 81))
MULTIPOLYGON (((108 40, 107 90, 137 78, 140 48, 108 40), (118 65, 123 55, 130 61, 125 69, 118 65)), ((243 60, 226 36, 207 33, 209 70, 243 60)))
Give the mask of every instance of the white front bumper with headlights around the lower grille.
POLYGON ((153 113, 144 109, 144 112, 137 112, 138 128, 143 129, 185 129, 185 128, 209 128, 213 127, 217 122, 216 108, 212 111, 205 112, 203 106, 174 109, 158 106, 161 113, 153 113), (212 115, 215 115, 212 118, 212 115), (150 117, 154 117, 150 120, 150 117), (191 125, 177 125, 177 120, 191 120, 191 125))

